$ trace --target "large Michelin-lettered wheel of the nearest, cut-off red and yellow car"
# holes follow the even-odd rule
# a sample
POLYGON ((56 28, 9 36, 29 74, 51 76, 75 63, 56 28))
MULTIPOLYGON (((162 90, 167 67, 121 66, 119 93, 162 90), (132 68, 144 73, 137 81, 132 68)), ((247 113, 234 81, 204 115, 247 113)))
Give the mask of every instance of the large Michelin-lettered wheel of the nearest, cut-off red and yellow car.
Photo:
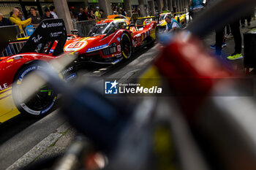
MULTIPOLYGON (((21 113, 32 116, 45 115, 50 112, 53 105, 56 102, 57 94, 50 88, 49 85, 42 85, 34 95, 23 101, 24 93, 20 90, 23 85, 23 80, 31 72, 35 70, 41 70, 42 66, 39 63, 29 63, 23 66, 15 75, 14 82, 12 84, 12 97, 15 101, 16 107, 21 113)), ((31 84, 33 85, 33 84, 31 84)), ((29 87, 26 87, 29 89, 29 87)))

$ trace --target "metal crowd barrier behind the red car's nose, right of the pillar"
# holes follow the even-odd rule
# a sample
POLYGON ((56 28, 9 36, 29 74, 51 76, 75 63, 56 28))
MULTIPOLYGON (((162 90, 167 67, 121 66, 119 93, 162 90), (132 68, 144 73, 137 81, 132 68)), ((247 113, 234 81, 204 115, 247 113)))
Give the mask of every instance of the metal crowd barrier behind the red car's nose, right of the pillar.
POLYGON ((95 20, 82 20, 75 22, 75 28, 78 29, 78 35, 87 36, 95 23, 95 20))

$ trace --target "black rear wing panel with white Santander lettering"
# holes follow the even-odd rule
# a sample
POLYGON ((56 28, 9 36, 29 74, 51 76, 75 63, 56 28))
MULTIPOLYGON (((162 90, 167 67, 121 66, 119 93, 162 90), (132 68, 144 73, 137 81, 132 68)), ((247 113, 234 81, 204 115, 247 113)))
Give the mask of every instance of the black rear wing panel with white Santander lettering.
POLYGON ((23 45, 19 53, 52 53, 53 56, 64 53, 67 40, 67 31, 62 19, 46 19, 37 26, 37 29, 23 45), (51 47, 57 43, 52 51, 51 47))

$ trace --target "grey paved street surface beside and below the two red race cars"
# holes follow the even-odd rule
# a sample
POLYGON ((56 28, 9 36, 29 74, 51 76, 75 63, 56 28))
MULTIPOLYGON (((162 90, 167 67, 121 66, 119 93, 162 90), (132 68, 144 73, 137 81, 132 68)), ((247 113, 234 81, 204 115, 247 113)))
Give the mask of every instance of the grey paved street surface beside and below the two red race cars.
MULTIPOLYGON (((143 47, 128 60, 116 65, 91 64, 81 78, 125 79, 135 76, 157 56, 157 46, 143 47)), ((61 102, 60 102, 61 103, 61 102)), ((57 109, 37 119, 19 115, 0 125, 0 169, 18 169, 41 158, 64 152, 75 136, 64 115, 57 109), (65 138, 65 139, 64 139, 65 138)))

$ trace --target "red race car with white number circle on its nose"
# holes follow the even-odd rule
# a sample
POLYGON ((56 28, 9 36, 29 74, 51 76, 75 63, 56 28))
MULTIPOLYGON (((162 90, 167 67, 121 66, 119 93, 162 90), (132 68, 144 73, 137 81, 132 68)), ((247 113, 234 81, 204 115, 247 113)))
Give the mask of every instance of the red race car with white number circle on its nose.
POLYGON ((77 52, 78 61, 115 64, 129 58, 132 52, 156 39, 157 22, 141 28, 124 19, 101 20, 91 28, 89 37, 77 37, 66 42, 64 51, 77 52))

